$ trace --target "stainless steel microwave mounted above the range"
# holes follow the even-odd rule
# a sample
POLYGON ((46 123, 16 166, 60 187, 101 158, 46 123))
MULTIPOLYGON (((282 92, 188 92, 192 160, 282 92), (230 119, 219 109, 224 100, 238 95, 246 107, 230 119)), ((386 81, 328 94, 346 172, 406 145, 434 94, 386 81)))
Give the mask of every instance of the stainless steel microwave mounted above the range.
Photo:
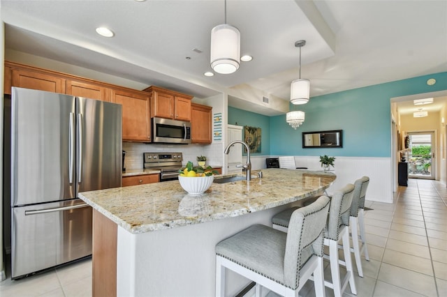
POLYGON ((152 118, 152 142, 191 144, 191 123, 152 118))

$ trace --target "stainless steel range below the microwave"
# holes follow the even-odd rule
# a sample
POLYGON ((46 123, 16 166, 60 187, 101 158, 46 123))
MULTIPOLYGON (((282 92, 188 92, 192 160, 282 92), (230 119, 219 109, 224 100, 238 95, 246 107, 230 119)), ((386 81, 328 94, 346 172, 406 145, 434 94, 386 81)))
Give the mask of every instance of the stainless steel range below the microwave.
POLYGON ((178 179, 182 160, 182 153, 143 153, 143 167, 160 170, 160 181, 178 179))

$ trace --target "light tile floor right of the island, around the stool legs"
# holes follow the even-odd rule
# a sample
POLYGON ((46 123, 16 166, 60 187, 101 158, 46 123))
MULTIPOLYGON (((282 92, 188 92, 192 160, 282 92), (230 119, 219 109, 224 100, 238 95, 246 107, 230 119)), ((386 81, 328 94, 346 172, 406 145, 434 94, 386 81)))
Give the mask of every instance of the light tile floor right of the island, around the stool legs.
MULTIPOLYGON (((393 204, 367 201, 366 206, 372 208, 365 211, 369 261, 362 257, 364 277, 355 276, 357 296, 447 296, 446 185, 410 179, 393 204)), ((326 261, 325 278, 330 279, 326 261)), ((334 296, 332 289, 325 292, 334 296)), ((314 296, 313 283, 300 294, 314 296)), ((349 286, 344 296, 355 296, 349 286)))

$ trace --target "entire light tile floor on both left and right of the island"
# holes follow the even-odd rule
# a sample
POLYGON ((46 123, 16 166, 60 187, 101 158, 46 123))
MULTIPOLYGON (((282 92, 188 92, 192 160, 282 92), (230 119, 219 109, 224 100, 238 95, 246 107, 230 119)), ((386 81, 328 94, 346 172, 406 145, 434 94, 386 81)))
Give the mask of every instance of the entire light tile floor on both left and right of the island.
MULTIPOLYGON (((356 275, 357 296, 447 296, 446 185, 411 179, 394 200, 367 201, 373 208, 365 212, 370 260, 362 258, 364 277, 356 275)), ((328 263, 325 275, 330 278, 328 263)), ((300 295, 314 296, 313 283, 300 295)), ((91 296, 91 260, 23 280, 8 278, 0 282, 0 296, 91 296)), ((326 289, 326 296, 333 291, 326 289)), ((344 296, 353 296, 349 287, 344 296)))

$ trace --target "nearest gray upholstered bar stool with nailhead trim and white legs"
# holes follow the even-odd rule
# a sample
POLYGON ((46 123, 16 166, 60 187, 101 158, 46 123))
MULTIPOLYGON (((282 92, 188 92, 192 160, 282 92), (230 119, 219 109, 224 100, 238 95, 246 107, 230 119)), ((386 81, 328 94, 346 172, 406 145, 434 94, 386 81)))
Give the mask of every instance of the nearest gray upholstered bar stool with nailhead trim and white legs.
POLYGON ((312 274, 316 296, 325 296, 323 229, 329 205, 329 198, 322 196, 291 213, 287 234, 254 224, 218 243, 216 296, 225 295, 226 268, 256 282, 256 296, 262 296, 262 287, 298 296, 312 274))

